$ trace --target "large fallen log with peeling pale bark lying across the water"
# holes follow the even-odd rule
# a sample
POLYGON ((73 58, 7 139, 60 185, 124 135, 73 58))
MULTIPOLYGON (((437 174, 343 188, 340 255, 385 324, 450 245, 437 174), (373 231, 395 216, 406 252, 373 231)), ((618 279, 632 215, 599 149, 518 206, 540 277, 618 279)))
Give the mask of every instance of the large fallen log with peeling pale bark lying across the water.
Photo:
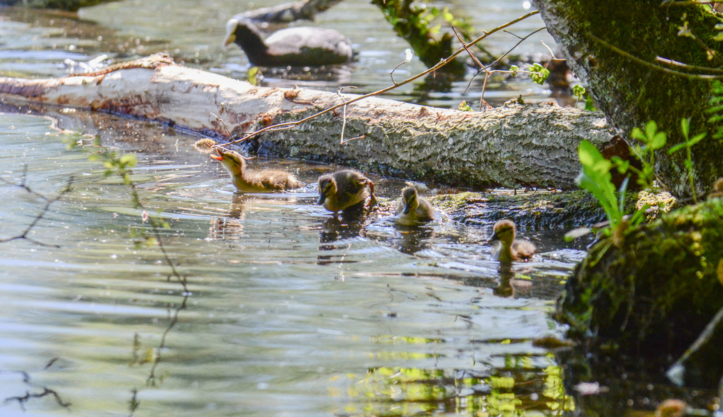
MULTIPOLYGON (((240 135, 342 103, 334 93, 255 87, 160 55, 83 76, 0 78, 0 99, 106 111, 226 138, 213 113, 240 135)), ((600 149, 620 145, 602 114, 547 104, 476 113, 372 97, 347 106, 346 119, 344 113, 340 108, 248 142, 275 155, 343 163, 385 176, 560 189, 576 188, 582 139, 600 149), (341 144, 342 128, 345 138, 365 137, 341 144)))

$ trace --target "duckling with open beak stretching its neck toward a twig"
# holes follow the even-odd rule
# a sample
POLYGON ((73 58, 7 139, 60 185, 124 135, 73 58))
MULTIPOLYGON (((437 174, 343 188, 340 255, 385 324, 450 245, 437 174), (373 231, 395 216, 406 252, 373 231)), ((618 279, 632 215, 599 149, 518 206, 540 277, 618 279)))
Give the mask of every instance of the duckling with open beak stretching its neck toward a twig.
POLYGON ((241 192, 273 192, 304 186, 290 173, 273 169, 252 171, 246 168, 246 161, 238 152, 218 147, 215 150, 218 156, 211 155, 211 158, 221 161, 223 168, 231 174, 234 186, 241 192))

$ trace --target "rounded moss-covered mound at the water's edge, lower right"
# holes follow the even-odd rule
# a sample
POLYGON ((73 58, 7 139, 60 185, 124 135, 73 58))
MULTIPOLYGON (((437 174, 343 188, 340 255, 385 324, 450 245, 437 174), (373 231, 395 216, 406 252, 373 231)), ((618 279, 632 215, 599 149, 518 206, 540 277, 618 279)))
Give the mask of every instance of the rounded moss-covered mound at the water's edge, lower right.
MULTIPOLYGON (((662 372, 723 306, 723 199, 709 199, 614 233, 568 280, 556 317, 599 355, 637 358, 662 372)), ((723 332, 683 364, 685 384, 717 387, 723 332)))

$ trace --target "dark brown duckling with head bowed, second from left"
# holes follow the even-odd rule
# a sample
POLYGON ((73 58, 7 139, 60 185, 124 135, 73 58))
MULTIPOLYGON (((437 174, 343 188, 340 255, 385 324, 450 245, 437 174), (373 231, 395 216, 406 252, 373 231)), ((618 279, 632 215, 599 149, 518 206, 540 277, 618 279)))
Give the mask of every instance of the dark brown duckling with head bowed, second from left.
POLYGON ((319 178, 319 201, 326 210, 336 214, 346 212, 361 206, 371 210, 377 205, 374 196, 374 183, 363 174, 346 170, 330 173, 319 178), (364 201, 369 198, 369 205, 364 207, 364 201))

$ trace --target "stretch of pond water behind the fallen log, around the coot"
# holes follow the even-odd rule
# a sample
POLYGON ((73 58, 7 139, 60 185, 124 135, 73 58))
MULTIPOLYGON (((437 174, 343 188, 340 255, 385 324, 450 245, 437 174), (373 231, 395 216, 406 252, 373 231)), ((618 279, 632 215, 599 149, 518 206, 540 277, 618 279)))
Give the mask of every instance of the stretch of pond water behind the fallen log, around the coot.
MULTIPOLYGON (((189 66, 246 79, 249 63, 244 52, 236 45, 223 48, 226 20, 254 7, 283 3, 283 0, 257 2, 255 5, 253 2, 231 0, 129 0, 81 9, 80 20, 67 14, 24 8, 0 9, 3 17, 0 20, 0 41, 5 48, 0 52, 0 74, 58 77, 68 72, 63 65, 64 59, 88 61, 107 54, 116 61, 127 61, 165 51, 176 61, 189 66)), ((432 6, 435 4, 429 4, 429 7, 432 6)), ((455 17, 466 18, 475 32, 481 34, 482 30, 491 30, 530 12, 531 9, 525 6, 525 1, 465 0, 449 7, 455 17)), ((441 18, 433 25, 437 24, 448 27, 441 18)), ((367 1, 342 1, 318 14, 314 22, 296 22, 294 25, 339 30, 354 44, 358 53, 356 61, 345 66, 309 69, 291 76, 268 69, 264 71, 263 85, 299 85, 331 91, 352 85, 358 87, 354 93, 369 93, 393 84, 390 72, 405 60, 405 51, 409 47, 405 40, 395 35, 382 12, 367 1)), ((519 38, 515 35, 525 36, 541 27, 544 27, 542 19, 531 17, 509 28, 514 35, 500 32, 485 40, 484 47, 501 55, 518 43, 519 38)), ((555 48, 552 37, 542 30, 521 43, 513 53, 526 54, 533 60, 545 59, 544 56, 549 58, 549 51, 542 45, 542 40, 555 48)), ((424 64, 414 57, 410 63, 395 70, 394 79, 399 82, 424 69, 424 64)), ((467 76, 455 82, 444 82, 443 77, 419 79, 392 90, 386 96, 454 108, 466 100, 477 108, 484 77, 476 77, 469 92, 464 94, 474 72, 470 67, 467 76)), ((492 106, 499 106, 519 95, 530 103, 550 100, 547 85, 536 85, 529 79, 503 80, 501 77, 489 80, 485 100, 492 106)), ((565 103, 569 104, 569 99, 565 103)))

